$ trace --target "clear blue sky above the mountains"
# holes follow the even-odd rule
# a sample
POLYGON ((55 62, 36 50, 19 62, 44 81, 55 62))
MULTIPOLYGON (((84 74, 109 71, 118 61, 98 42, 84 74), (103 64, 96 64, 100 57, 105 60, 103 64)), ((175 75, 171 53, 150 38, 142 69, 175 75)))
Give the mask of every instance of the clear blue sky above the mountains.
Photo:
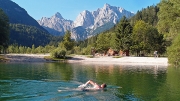
POLYGON ((24 8, 30 16, 39 20, 42 17, 51 17, 59 12, 63 18, 75 20, 84 10, 95 11, 105 3, 111 6, 122 7, 136 13, 147 6, 156 5, 160 0, 12 0, 24 8))

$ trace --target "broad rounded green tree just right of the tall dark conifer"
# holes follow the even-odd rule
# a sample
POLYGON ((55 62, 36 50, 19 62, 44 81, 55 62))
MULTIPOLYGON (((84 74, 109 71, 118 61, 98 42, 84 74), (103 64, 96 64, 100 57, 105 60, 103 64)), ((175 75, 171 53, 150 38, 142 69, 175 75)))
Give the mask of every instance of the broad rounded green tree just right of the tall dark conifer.
POLYGON ((136 51, 137 55, 140 51, 143 51, 144 54, 151 53, 154 50, 161 54, 165 52, 166 44, 163 35, 159 34, 155 27, 142 20, 136 22, 132 39, 131 50, 136 51))

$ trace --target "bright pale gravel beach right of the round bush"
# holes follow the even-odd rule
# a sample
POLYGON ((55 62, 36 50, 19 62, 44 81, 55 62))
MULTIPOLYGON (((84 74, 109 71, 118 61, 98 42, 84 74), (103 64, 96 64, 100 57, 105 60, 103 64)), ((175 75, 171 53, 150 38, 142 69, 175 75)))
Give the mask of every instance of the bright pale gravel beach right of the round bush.
POLYGON ((121 64, 121 65, 164 65, 168 66, 166 57, 95 57, 87 58, 85 56, 74 56, 68 60, 69 63, 98 63, 98 64, 121 64))

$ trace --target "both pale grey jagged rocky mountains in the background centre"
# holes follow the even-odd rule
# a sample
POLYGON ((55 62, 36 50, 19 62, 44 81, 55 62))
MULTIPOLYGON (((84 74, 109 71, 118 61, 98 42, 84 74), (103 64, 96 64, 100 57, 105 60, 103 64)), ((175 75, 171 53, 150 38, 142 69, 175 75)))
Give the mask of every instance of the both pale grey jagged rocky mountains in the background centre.
POLYGON ((84 10, 77 16, 74 22, 72 20, 66 20, 60 13, 56 13, 51 18, 42 17, 41 20, 38 20, 38 23, 51 34, 64 35, 66 30, 70 30, 73 39, 84 40, 104 30, 110 29, 114 24, 119 22, 123 16, 129 18, 133 15, 133 13, 121 7, 105 4, 103 8, 98 8, 96 11, 90 12, 84 10), (104 25, 106 25, 106 29, 102 28, 104 25), (54 31, 56 33, 54 33, 54 31))

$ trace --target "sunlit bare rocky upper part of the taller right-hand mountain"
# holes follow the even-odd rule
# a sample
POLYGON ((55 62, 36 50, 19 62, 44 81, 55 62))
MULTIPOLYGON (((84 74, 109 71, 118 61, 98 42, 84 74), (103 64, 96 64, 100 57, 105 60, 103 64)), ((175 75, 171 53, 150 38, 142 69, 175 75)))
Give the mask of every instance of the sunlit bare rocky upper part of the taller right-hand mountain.
POLYGON ((96 11, 89 12, 85 10, 80 13, 74 21, 74 27, 83 26, 85 28, 91 27, 96 29, 105 23, 113 22, 116 24, 123 16, 129 18, 133 15, 133 13, 121 7, 105 4, 103 8, 99 8, 96 11))

